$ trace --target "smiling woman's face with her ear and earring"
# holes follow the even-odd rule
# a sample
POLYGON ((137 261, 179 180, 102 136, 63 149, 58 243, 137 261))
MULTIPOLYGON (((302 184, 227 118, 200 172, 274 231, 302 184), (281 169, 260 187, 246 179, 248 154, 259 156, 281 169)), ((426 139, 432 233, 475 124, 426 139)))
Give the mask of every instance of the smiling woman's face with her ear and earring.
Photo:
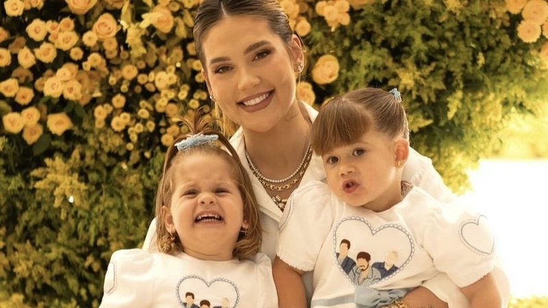
POLYGON ((228 16, 203 39, 204 75, 210 94, 230 120, 265 132, 282 120, 295 101, 299 39, 291 47, 255 16, 228 16))

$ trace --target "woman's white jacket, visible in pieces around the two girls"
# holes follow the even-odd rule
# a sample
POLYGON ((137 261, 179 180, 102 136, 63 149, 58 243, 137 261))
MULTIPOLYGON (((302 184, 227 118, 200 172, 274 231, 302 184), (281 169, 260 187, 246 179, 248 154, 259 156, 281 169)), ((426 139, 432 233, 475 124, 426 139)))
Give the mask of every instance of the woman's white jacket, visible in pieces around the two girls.
MULTIPOLYGON (((304 105, 306 106, 306 110, 308 112, 308 116, 310 116, 310 120, 313 121, 316 118, 318 112, 314 110, 314 108, 312 108, 310 105, 304 105)), ((249 169, 249 166, 247 166, 244 155, 245 144, 241 128, 238 129, 236 133, 234 133, 234 136, 232 136, 232 138, 230 139, 230 143, 238 152, 238 155, 240 156, 240 161, 246 168, 249 177, 251 178, 251 183, 253 184, 253 192, 256 194, 257 201, 260 206, 261 224, 263 229, 261 251, 273 260, 275 257, 278 223, 280 218, 282 217, 282 212, 279 211, 279 209, 271 200, 270 196, 266 193, 258 179, 253 176, 253 173, 249 169)), ((445 183, 443 183, 443 179, 440 177, 438 172, 436 172, 434 166, 432 166, 432 160, 419 154, 412 148, 410 148, 410 153, 406 165, 403 167, 402 177, 404 180, 410 181, 413 185, 423 188, 423 190, 428 192, 428 194, 430 194, 431 196, 434 196, 434 198, 438 199, 439 201, 449 202, 453 201, 455 198, 451 190, 449 190, 445 183)), ((323 180, 325 180, 325 171, 323 170, 321 157, 319 157, 318 155, 312 155, 312 159, 310 161, 308 169, 306 170, 306 173, 304 174, 303 179, 299 184, 299 187, 305 185, 306 183, 309 183, 310 181, 323 180)), ((142 246, 143 249, 155 251, 155 231, 156 225, 154 218, 149 226, 147 237, 145 238, 145 243, 142 246)), ((497 262, 497 264, 501 263, 497 262)), ((493 273, 497 278, 497 284, 499 285, 499 290, 501 290, 501 294, 503 296, 503 303, 505 303, 506 306, 510 298, 508 278, 506 277, 506 274, 504 273, 502 268, 500 268, 500 266, 495 268, 493 273)), ((303 281, 306 286, 307 297, 310 299, 312 296, 312 274, 305 274, 303 276, 303 281)), ((447 277, 444 277, 443 275, 437 277, 434 283, 425 283, 424 286, 427 287, 430 291, 434 292, 434 294, 436 294, 438 298, 444 300, 447 303, 460 303, 463 297, 460 292, 453 292, 454 290, 458 289, 447 277), (440 281, 443 281, 444 283, 440 283, 440 281)), ((464 300, 466 300, 466 298, 464 298, 464 300)))

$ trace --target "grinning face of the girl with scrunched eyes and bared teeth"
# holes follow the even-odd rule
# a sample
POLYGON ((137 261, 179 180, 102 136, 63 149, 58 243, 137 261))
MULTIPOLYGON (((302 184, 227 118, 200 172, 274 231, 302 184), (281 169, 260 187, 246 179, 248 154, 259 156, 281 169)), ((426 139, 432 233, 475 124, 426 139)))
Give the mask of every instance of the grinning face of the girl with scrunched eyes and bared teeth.
POLYGON ((175 168, 166 227, 175 227, 184 252, 199 259, 228 260, 243 220, 243 201, 223 157, 190 155, 175 168))

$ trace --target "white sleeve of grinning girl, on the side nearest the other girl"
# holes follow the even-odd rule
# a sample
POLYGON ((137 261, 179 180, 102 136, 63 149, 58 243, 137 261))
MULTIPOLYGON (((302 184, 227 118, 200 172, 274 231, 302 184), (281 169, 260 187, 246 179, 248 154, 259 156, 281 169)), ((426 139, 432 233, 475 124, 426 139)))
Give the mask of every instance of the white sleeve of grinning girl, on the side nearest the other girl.
POLYGON ((264 253, 258 253, 255 257, 255 263, 258 266, 257 281, 262 281, 259 296, 261 303, 258 307, 277 308, 278 296, 272 276, 272 261, 264 253))

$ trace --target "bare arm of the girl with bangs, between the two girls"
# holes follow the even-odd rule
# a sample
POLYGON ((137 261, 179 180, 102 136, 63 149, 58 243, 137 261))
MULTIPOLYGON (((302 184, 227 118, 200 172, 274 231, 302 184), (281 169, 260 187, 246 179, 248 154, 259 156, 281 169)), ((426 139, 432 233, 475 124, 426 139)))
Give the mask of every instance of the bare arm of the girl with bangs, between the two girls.
POLYGON ((302 274, 302 271, 289 266, 279 257, 274 260, 273 276, 280 308, 307 307, 302 274))

